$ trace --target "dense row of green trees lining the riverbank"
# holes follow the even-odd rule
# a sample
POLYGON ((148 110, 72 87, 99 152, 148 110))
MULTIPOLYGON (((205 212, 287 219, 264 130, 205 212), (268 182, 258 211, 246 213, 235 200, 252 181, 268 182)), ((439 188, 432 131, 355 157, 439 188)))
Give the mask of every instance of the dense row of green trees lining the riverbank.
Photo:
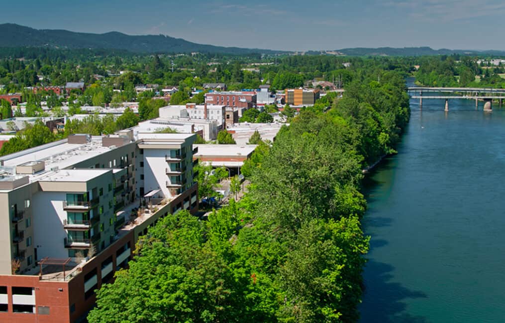
POLYGON ((259 141, 238 203, 149 229, 88 320, 358 320, 362 168, 393 151, 409 117, 402 76, 375 79, 361 70, 329 112, 301 111, 273 144, 259 141))

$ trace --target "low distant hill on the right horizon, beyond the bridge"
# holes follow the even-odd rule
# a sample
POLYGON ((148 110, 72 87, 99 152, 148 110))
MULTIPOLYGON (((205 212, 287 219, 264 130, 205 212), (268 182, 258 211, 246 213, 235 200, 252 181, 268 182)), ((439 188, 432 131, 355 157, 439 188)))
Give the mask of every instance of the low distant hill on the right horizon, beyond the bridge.
POLYGON ((472 50, 434 50, 429 47, 404 47, 404 48, 345 48, 335 50, 348 56, 434 56, 434 55, 496 55, 505 56, 503 51, 472 51, 472 50))

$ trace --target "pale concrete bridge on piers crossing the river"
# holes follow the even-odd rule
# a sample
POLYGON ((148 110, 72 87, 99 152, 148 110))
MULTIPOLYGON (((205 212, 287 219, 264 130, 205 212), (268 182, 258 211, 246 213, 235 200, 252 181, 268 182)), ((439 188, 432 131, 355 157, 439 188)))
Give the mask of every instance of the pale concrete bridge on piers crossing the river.
POLYGON ((484 111, 492 110, 493 100, 498 100, 500 107, 505 99, 505 89, 492 88, 429 88, 410 87, 408 92, 411 98, 419 99, 419 106, 423 108, 423 99, 445 99, 445 111, 449 110, 449 99, 475 100, 475 108, 479 107, 479 100, 484 101, 484 111), (423 95, 423 92, 454 93, 460 95, 423 95), (464 95, 461 95, 464 94, 464 95))

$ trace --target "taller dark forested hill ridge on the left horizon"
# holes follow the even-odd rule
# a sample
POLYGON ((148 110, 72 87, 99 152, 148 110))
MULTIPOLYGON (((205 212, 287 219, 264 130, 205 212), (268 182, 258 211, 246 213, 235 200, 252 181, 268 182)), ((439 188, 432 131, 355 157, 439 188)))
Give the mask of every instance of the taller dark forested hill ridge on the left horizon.
POLYGON ((135 53, 222 53, 277 54, 287 53, 263 49, 219 47, 196 44, 166 35, 127 35, 112 31, 103 34, 59 29, 34 29, 17 24, 0 24, 0 47, 49 47, 66 49, 115 49, 135 53))

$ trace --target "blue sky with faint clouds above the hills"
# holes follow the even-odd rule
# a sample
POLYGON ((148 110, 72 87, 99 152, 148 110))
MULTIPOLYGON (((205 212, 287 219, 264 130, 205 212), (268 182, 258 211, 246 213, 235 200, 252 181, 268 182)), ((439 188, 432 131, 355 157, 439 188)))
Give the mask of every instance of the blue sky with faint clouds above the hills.
POLYGON ((502 0, 6 1, 0 23, 166 34, 217 46, 288 51, 351 47, 505 50, 502 0))

